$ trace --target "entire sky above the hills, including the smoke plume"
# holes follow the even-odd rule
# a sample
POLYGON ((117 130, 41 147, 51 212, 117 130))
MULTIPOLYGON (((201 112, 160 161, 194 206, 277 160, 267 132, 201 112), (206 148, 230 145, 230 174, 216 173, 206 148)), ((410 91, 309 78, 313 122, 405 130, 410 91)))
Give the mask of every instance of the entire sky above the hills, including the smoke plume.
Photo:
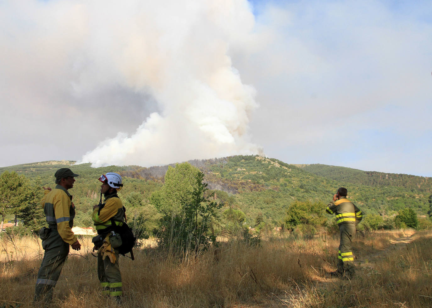
POLYGON ((431 16, 430 1, 1 2, 0 166, 261 153, 432 176, 431 16))

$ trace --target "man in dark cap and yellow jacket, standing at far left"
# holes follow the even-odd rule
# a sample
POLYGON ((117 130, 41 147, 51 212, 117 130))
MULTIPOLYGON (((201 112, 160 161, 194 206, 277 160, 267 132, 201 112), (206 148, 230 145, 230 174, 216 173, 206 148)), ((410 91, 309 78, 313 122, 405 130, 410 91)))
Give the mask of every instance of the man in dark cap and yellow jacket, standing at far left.
POLYGON ((69 246, 74 250, 81 249, 81 244, 72 232, 75 206, 68 192, 73 187, 74 178, 78 175, 69 168, 61 168, 54 176, 56 187, 54 189, 43 187, 45 195, 41 206, 49 228, 42 228, 44 235, 40 233, 45 253, 36 280, 35 302, 51 301, 54 286, 69 254, 69 246))

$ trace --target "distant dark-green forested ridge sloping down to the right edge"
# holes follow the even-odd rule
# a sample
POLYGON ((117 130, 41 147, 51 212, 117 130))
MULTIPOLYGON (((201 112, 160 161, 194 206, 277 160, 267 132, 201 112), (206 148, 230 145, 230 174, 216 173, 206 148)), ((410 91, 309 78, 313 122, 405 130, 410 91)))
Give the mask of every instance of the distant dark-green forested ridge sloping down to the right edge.
POLYGON ((362 171, 358 169, 321 164, 296 165, 305 171, 335 181, 369 186, 396 186, 431 193, 432 178, 416 175, 362 171))

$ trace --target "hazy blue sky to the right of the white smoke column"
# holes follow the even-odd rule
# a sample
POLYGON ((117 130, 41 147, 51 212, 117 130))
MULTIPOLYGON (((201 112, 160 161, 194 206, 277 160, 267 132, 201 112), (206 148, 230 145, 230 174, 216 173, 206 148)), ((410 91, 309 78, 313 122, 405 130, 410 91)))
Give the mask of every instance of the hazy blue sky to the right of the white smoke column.
MULTIPOLYGON (((270 130, 301 131, 281 138, 286 147, 278 157, 431 176, 430 2, 253 4, 261 27, 278 34, 274 62, 284 55, 287 62, 296 60, 266 76, 266 89, 275 85, 267 95, 257 91, 259 102, 280 102, 274 107, 282 112, 268 121, 270 130), (284 115, 298 120, 281 125, 284 115)), ((261 143, 267 152, 278 151, 268 143, 261 143)))

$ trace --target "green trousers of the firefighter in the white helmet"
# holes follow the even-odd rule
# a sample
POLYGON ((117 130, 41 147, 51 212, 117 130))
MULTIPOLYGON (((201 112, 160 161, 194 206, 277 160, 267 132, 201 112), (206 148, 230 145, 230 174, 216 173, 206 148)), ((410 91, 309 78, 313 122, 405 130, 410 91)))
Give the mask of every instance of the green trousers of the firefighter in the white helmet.
POLYGON ((121 296, 122 283, 120 267, 118 265, 118 250, 115 251, 115 263, 111 263, 108 257, 102 260, 102 254, 98 254, 98 278, 102 286, 102 292, 110 296, 121 296))

